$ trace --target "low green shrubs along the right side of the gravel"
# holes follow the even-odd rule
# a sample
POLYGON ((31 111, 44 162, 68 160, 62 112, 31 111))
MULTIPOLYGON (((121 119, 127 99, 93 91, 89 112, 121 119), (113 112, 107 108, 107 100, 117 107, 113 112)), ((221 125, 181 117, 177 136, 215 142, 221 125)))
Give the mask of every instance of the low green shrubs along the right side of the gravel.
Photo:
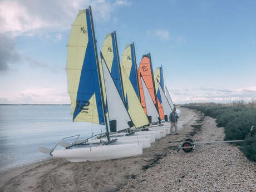
POLYGON ((218 127, 224 127, 225 140, 243 140, 235 143, 240 146, 248 159, 256 162, 256 102, 244 101, 232 104, 185 104, 182 107, 201 111, 205 116, 216 119, 218 127), (248 136, 250 127, 254 126, 252 136, 248 136))

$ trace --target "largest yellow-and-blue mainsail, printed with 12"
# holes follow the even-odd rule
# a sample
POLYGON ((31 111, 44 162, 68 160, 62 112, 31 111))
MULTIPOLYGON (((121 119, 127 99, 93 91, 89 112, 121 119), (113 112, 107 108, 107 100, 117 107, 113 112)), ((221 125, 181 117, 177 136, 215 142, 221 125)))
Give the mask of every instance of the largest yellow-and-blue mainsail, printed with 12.
POLYGON ((67 45, 67 85, 73 121, 104 124, 91 9, 78 12, 67 45))

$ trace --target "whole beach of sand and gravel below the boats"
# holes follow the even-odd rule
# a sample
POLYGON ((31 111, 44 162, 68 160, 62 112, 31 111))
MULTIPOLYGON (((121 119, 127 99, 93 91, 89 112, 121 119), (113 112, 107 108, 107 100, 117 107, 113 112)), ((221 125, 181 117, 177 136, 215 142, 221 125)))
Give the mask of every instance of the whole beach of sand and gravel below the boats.
POLYGON ((183 129, 151 144, 142 155, 70 163, 49 159, 0 175, 0 191, 256 191, 256 164, 232 144, 173 150, 188 137, 223 140, 214 119, 181 108, 183 129))

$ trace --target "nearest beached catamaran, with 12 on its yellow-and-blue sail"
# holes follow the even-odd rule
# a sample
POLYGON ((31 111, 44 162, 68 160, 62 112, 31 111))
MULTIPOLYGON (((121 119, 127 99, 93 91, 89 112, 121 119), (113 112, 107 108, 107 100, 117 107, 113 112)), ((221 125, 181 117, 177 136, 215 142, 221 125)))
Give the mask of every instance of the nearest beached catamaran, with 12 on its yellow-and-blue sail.
POLYGON ((109 132, 116 132, 132 127, 134 124, 126 110, 122 97, 100 54, 102 77, 104 78, 106 101, 102 92, 102 78, 96 49, 95 33, 91 7, 78 12, 72 24, 67 46, 67 82, 71 100, 72 120, 85 121, 106 126, 107 141, 78 141, 72 144, 58 142, 53 149, 39 147, 41 152, 49 152, 53 157, 62 157, 69 161, 99 161, 142 154, 140 142, 123 145, 115 144, 109 132), (109 124, 106 117, 106 105, 109 111, 109 124), (55 150, 57 145, 64 150, 55 150))

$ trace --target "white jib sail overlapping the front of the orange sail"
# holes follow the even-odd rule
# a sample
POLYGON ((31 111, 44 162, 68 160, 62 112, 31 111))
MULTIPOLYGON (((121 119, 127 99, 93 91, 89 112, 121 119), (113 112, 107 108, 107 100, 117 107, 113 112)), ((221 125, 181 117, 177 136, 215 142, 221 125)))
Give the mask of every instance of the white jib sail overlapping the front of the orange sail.
POLYGON ((141 78, 142 88, 143 88, 144 97, 145 97, 147 116, 151 116, 151 122, 157 122, 159 118, 159 114, 156 110, 156 106, 150 96, 149 90, 147 90, 147 87, 143 78, 142 77, 140 78, 141 78))

